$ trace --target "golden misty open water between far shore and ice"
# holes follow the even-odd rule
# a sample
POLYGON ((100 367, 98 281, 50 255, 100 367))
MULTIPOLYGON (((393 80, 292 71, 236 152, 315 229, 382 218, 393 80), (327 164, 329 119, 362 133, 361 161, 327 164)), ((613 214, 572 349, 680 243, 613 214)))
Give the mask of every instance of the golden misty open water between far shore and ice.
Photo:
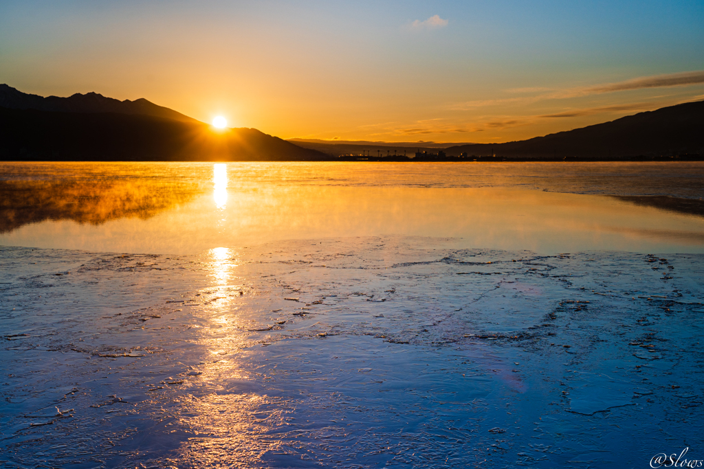
POLYGON ((700 162, 3 163, 0 174, 2 245, 187 254, 403 235, 542 253, 704 252, 700 162))

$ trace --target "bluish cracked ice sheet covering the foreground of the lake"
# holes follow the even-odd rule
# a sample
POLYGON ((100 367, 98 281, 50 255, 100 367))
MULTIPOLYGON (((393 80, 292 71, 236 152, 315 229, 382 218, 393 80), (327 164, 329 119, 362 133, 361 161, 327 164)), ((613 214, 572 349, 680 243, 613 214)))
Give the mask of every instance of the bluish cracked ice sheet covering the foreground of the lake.
POLYGON ((0 463, 646 467, 701 448, 704 256, 0 248, 0 463))

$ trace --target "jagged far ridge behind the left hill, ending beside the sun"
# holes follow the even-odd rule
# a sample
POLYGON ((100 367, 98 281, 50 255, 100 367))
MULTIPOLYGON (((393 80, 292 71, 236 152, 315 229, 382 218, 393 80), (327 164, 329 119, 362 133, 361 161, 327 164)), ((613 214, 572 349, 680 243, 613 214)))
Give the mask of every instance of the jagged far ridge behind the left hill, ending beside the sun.
POLYGON ((97 93, 76 93, 68 98, 60 98, 58 96, 47 96, 44 98, 44 96, 37 94, 23 93, 6 84, 0 84, 0 107, 48 110, 62 113, 143 114, 183 122, 199 122, 193 117, 156 105, 144 98, 135 99, 134 101, 129 99, 120 101, 114 98, 106 98, 97 93))

